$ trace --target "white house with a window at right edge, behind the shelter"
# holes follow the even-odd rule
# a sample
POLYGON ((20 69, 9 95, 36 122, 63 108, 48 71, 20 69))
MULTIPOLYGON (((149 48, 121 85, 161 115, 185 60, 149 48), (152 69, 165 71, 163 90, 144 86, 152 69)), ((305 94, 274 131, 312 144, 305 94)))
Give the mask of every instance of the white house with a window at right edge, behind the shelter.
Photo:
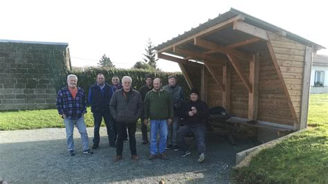
POLYGON ((328 55, 313 55, 310 93, 328 93, 328 55))

